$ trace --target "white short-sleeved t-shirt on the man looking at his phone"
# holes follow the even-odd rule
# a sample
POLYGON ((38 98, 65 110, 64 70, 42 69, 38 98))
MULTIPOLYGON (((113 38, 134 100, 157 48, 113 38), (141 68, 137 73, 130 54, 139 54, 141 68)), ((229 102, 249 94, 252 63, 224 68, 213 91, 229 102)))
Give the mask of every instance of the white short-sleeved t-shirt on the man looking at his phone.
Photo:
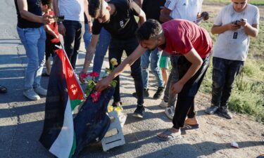
MULTIPOLYGON (((246 19, 249 25, 259 24, 258 7, 247 4, 244 11, 236 12, 232 4, 225 6, 215 18, 214 25, 226 25, 230 22, 241 20, 241 18, 246 19)), ((249 51, 249 42, 250 38, 246 34, 244 27, 237 30, 227 30, 218 34, 213 49, 213 56, 228 60, 245 61, 249 51)))

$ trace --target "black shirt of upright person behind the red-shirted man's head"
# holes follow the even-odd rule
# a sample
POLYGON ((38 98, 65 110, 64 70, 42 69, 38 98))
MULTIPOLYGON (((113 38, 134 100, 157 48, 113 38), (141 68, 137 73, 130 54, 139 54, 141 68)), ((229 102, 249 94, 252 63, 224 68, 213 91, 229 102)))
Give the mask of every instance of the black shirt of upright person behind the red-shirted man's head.
POLYGON ((161 15, 161 6, 164 6, 165 0, 144 0, 142 10, 146 14, 146 19, 155 19, 159 21, 161 15))

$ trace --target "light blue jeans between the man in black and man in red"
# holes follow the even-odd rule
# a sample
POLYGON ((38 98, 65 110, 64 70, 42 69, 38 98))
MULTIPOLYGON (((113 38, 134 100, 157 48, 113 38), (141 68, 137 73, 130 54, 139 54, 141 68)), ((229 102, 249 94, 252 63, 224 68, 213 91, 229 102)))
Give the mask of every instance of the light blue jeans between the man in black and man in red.
POLYGON ((158 51, 158 48, 154 49, 153 51, 146 50, 141 58, 142 81, 144 89, 148 88, 149 84, 149 62, 151 63, 151 71, 158 81, 158 87, 163 87, 163 78, 161 75, 161 69, 159 67, 161 51, 158 51))

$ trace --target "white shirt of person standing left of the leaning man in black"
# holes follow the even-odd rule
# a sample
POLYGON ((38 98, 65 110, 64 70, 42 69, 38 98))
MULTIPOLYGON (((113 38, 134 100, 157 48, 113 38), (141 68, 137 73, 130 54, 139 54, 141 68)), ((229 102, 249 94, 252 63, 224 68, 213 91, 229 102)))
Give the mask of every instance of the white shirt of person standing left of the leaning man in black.
POLYGON ((58 8, 65 20, 84 21, 84 0, 59 0, 58 8))

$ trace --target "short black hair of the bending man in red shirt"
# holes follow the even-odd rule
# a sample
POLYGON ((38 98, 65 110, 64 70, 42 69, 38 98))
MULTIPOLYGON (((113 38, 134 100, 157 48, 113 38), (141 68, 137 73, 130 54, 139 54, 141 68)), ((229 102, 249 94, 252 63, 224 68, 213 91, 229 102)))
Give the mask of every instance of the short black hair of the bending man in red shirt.
POLYGON ((149 19, 137 29, 136 34, 139 41, 149 40, 160 37, 163 34, 163 29, 160 22, 154 19, 149 19))

